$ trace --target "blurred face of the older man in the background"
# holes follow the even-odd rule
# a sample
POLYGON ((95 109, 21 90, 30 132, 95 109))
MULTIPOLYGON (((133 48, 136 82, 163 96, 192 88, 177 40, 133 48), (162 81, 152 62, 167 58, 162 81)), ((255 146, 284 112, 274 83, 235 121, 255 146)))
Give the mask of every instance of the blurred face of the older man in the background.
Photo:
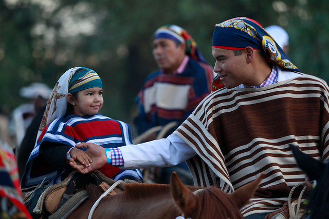
POLYGON ((155 62, 163 71, 172 73, 175 71, 185 56, 185 45, 176 43, 167 38, 157 38, 153 41, 153 56, 155 62))

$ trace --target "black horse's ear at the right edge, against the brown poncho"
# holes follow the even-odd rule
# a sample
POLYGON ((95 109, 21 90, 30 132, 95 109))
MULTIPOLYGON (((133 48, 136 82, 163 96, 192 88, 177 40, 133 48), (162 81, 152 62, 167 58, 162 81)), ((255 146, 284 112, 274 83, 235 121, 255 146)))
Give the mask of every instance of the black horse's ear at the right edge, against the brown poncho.
POLYGON ((289 147, 293 151, 298 167, 306 173, 308 180, 317 180, 322 175, 325 164, 322 161, 318 161, 312 156, 303 153, 293 144, 289 144, 289 147))

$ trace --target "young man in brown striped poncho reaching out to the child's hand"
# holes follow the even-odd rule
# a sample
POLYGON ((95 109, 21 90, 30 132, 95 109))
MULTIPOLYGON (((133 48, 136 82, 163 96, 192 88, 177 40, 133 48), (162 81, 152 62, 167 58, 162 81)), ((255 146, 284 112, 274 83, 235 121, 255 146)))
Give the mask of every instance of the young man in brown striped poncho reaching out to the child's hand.
MULTIPOLYGON (((264 172, 250 204, 241 209, 246 218, 264 218, 282 208, 291 188, 305 180, 289 144, 328 158, 328 86, 301 73, 262 26, 246 17, 215 26, 212 52, 214 81, 221 79, 226 88, 207 96, 167 138, 116 150, 124 168, 187 160, 195 185, 219 185, 226 192, 264 172)), ((82 146, 92 157, 103 150, 82 146)), ((106 162, 104 151, 98 157, 106 162)), ((97 167, 70 164, 81 172, 97 167)))

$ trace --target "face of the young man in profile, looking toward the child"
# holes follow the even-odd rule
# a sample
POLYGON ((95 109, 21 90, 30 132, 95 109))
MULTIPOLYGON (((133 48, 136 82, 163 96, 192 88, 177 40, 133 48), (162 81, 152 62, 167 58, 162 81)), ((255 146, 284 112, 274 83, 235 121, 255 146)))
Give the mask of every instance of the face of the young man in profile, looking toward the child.
POLYGON ((212 56, 216 60, 214 71, 221 77, 226 88, 248 85, 252 80, 247 69, 245 51, 235 56, 232 50, 212 48, 212 56))

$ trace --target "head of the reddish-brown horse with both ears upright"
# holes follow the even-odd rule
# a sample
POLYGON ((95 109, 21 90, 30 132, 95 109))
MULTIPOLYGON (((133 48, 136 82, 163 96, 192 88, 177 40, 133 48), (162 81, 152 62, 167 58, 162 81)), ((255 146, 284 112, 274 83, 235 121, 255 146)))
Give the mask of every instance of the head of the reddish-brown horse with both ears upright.
POLYGON ((264 173, 256 180, 227 194, 217 187, 208 187, 192 192, 173 172, 170 180, 171 194, 186 218, 244 218, 240 208, 248 203, 258 188, 264 173))

